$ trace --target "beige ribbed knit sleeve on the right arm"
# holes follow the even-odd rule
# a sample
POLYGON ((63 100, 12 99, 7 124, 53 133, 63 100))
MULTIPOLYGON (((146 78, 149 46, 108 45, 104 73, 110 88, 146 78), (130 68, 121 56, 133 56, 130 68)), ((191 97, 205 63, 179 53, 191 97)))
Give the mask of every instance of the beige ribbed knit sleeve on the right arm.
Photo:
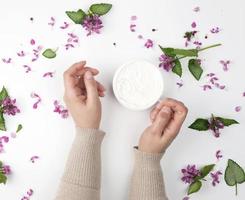
POLYGON ((134 150, 135 163, 129 200, 167 200, 160 160, 163 154, 134 150))

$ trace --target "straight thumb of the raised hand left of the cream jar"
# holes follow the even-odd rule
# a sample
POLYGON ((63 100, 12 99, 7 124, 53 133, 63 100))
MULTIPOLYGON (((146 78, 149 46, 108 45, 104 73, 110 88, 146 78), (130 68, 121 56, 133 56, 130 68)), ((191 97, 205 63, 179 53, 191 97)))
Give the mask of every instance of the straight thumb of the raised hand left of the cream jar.
POLYGON ((87 91, 88 101, 96 101, 99 98, 97 84, 94 80, 93 74, 90 71, 85 72, 84 84, 87 91))

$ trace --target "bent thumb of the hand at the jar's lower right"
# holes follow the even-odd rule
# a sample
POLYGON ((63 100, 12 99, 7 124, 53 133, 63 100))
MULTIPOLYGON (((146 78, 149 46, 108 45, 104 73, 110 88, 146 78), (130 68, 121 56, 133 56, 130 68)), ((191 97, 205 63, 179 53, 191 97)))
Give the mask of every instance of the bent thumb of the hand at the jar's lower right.
POLYGON ((152 124, 154 132, 159 136, 161 136, 165 127, 169 123, 171 117, 172 117, 172 110, 167 106, 162 107, 162 109, 159 111, 156 117, 156 120, 152 124))

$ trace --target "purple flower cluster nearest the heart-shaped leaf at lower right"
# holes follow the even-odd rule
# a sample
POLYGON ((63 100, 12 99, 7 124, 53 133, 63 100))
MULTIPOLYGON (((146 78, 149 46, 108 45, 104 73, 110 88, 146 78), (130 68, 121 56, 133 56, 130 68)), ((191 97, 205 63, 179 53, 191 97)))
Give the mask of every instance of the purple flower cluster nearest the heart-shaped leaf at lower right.
POLYGON ((181 172, 183 174, 181 180, 189 184, 194 181, 196 176, 200 175, 200 171, 196 168, 196 165, 187 165, 185 169, 181 169, 181 172))

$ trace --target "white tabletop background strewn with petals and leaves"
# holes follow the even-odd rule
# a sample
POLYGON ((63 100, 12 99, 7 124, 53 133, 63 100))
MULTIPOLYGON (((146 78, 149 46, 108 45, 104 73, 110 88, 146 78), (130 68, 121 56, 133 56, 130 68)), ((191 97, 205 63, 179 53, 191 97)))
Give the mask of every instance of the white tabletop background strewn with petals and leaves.
MULTIPOLYGON (((47 26, 50 16, 55 16, 58 24, 61 24, 68 21, 64 14, 66 10, 87 8, 91 2, 94 1, 69 0, 61 3, 58 0, 1 0, 0 57, 15 56, 16 51, 21 50, 21 45, 27 44, 30 38, 35 38, 45 47, 65 43, 64 32, 47 26), (29 21, 30 17, 35 19, 33 24, 29 21)), ((228 90, 203 92, 200 88, 202 81, 195 81, 187 68, 183 75, 185 85, 178 89, 178 78, 163 72, 165 95, 182 100, 189 108, 180 135, 162 160, 169 199, 180 200, 185 195, 187 185, 180 181, 180 169, 188 163, 204 165, 214 162, 217 149, 221 149, 224 154, 224 158, 218 163, 218 169, 224 170, 228 158, 245 166, 245 101, 241 95, 245 90, 244 1, 110 2, 114 7, 103 18, 105 28, 101 35, 86 37, 80 27, 72 28, 81 36, 80 48, 68 52, 61 49, 54 60, 40 59, 33 66, 34 72, 31 74, 24 73, 19 60, 14 65, 0 64, 0 85, 6 85, 11 96, 17 98, 22 110, 15 118, 7 118, 8 129, 15 130, 19 122, 24 126, 19 136, 6 146, 6 153, 0 154, 0 159, 10 164, 14 172, 8 184, 0 186, 1 200, 20 200, 29 188, 35 191, 32 200, 54 198, 74 129, 71 118, 63 120, 52 112, 52 103, 54 99, 62 100, 63 71, 81 59, 86 59, 91 66, 100 69, 99 79, 108 89, 107 96, 102 100, 102 129, 107 132, 102 148, 102 199, 127 199, 133 161, 132 146, 137 144, 138 137, 149 124, 149 111, 133 112, 120 106, 112 93, 112 77, 117 67, 127 60, 147 59, 157 65, 161 54, 157 45, 153 50, 144 48, 142 41, 137 39, 137 34, 129 31, 131 15, 138 16, 139 33, 164 46, 183 47, 183 33, 190 29, 193 20, 197 21, 198 29, 203 35, 214 26, 222 28, 219 34, 210 35, 205 45, 221 42, 223 46, 202 53, 201 57, 205 57, 205 73, 218 73, 228 90), (200 13, 192 12, 195 6, 201 7, 200 13), (157 28, 158 31, 151 32, 152 28, 157 28), (113 42, 117 43, 116 48, 113 42), (223 72, 220 59, 232 60, 229 72, 223 72), (56 71, 54 79, 42 78, 43 72, 53 70, 56 71), (33 91, 43 98, 38 110, 32 109, 33 99, 30 98, 30 93, 33 91), (244 106, 240 113, 235 113, 236 105, 244 106), (197 133, 187 128, 195 118, 209 116, 210 113, 233 117, 240 125, 225 129, 219 139, 215 139, 211 133, 197 133), (34 154, 41 159, 33 165, 29 158, 34 154)), ((222 180, 216 188, 205 184, 191 199, 243 200, 245 184, 239 185, 238 197, 234 196, 234 192, 234 188, 227 187, 222 180)))

